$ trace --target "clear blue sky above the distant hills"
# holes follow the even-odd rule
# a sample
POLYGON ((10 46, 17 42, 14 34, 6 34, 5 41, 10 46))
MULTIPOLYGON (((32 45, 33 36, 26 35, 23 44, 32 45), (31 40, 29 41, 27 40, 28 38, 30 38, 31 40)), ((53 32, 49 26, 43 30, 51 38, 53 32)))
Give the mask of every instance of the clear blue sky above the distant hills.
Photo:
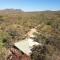
POLYGON ((0 0, 0 9, 23 11, 60 10, 60 0, 0 0))

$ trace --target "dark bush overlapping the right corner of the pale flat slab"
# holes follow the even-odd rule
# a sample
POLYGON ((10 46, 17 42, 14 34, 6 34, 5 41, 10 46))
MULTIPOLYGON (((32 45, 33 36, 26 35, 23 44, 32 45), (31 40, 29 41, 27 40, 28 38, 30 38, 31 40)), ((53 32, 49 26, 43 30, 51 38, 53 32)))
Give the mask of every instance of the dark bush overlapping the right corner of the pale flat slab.
POLYGON ((46 47, 45 46, 34 46, 32 49, 31 58, 32 60, 45 60, 46 47))

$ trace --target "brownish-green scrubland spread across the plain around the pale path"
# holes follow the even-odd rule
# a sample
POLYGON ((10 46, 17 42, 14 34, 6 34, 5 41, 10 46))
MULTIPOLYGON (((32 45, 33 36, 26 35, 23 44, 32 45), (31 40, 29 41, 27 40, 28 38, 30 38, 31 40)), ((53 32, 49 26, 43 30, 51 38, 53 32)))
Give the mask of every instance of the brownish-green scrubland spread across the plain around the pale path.
MULTIPOLYGON (((39 24, 41 26, 37 28, 39 34, 36 41, 43 43, 47 50, 46 53, 41 53, 43 48, 36 47, 41 53, 39 55, 36 51, 36 55, 40 56, 41 60, 42 55, 46 60, 60 60, 60 12, 0 14, 0 60, 5 60, 10 44, 24 39, 29 29, 39 24)), ((35 53, 33 58, 34 56, 35 53)))

